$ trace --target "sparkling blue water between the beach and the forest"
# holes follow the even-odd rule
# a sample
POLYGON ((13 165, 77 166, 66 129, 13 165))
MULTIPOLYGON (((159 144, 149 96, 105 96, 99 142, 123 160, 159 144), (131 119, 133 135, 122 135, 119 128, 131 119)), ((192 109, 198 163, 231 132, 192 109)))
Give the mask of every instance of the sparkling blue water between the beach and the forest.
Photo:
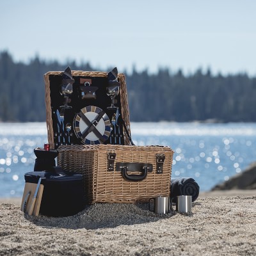
MULTIPOLYGON (((136 145, 175 150, 172 177, 192 177, 200 191, 243 172, 256 161, 256 124, 132 123, 136 145)), ((47 143, 45 123, 0 123, 0 197, 22 196, 35 147, 47 143)))

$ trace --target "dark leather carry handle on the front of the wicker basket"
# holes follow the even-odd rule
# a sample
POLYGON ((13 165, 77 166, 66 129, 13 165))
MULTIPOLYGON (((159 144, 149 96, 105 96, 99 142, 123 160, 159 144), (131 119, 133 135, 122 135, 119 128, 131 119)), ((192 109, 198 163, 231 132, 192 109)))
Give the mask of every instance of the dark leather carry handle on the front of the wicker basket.
POLYGON ((152 172, 153 166, 148 163, 116 163, 116 170, 122 173, 125 180, 141 181, 147 178, 148 172, 152 172), (141 172, 141 174, 128 174, 128 172, 141 172))

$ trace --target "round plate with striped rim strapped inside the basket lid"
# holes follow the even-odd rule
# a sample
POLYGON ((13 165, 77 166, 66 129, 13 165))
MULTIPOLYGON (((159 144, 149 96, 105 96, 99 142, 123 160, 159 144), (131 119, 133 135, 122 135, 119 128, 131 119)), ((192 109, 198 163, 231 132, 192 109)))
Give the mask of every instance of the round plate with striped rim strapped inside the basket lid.
POLYGON ((81 118, 82 113, 92 123, 101 111, 102 109, 98 107, 87 106, 85 108, 82 108, 80 113, 76 114, 74 118, 74 131, 76 133, 77 138, 80 138, 83 144, 94 145, 104 143, 104 141, 108 140, 111 132, 111 125, 108 115, 106 115, 106 113, 104 113, 104 115, 102 116, 102 118, 100 118, 97 125, 95 125, 95 129, 97 129, 97 131, 99 131, 99 133, 102 135, 103 140, 100 140, 93 131, 89 132, 85 136, 85 138, 82 137, 84 132, 86 132, 88 127, 90 127, 90 124, 86 124, 83 118, 81 118))

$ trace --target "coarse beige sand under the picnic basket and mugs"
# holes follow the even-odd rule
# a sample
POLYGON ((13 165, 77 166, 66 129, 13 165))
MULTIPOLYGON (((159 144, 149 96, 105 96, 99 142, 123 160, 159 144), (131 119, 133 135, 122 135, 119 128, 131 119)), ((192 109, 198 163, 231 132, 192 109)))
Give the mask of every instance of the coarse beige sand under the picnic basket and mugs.
POLYGON ((157 215, 147 204, 94 204, 75 216, 36 218, 13 204, 19 198, 2 198, 0 255, 255 255, 250 192, 202 193, 191 215, 157 215))

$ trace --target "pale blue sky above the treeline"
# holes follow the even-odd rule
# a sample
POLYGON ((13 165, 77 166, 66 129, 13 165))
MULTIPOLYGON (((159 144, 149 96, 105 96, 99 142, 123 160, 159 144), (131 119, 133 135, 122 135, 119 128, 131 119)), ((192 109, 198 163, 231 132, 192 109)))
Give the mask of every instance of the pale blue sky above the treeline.
POLYGON ((101 71, 255 76, 255 12, 255 0, 0 1, 0 52, 101 71))

